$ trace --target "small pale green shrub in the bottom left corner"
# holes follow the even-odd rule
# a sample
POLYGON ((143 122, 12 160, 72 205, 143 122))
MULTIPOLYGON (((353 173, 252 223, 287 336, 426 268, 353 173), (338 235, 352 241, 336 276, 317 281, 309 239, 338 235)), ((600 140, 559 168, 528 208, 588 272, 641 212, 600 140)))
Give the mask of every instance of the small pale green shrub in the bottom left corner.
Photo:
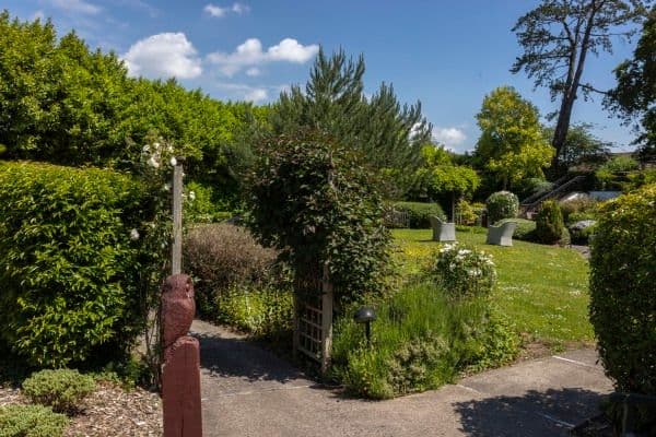
POLYGON ((49 406, 0 406, 0 437, 60 437, 69 423, 49 406))

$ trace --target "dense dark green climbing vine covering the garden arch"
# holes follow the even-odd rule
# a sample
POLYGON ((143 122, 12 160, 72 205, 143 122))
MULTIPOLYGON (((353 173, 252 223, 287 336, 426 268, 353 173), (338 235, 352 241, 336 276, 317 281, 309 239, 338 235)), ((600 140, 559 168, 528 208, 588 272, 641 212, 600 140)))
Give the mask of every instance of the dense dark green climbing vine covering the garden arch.
POLYGON ((375 181, 351 147, 323 134, 278 137, 260 149, 250 227, 280 250, 296 279, 328 264, 336 298, 383 288, 389 233, 375 181))

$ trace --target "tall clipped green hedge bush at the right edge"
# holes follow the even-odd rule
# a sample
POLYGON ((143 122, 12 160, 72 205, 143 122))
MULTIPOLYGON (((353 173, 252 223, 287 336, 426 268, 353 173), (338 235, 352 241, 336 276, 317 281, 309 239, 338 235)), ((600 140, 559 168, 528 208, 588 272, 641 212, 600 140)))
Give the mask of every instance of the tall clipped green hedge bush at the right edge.
POLYGON ((607 375, 656 395, 656 184, 607 202, 591 241, 590 321, 607 375))

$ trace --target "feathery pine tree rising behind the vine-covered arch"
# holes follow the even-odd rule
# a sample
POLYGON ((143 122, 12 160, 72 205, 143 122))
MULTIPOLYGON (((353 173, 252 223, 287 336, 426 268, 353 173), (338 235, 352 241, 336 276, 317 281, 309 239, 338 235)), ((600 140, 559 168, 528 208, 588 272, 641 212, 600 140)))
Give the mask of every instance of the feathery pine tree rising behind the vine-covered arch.
POLYGON ((431 138, 431 126, 421 115, 421 104, 401 105, 391 85, 383 83, 367 97, 364 70, 362 56, 354 61, 343 50, 330 57, 319 50, 305 88, 295 85, 281 93, 272 111, 273 131, 326 132, 366 156, 389 187, 405 185, 405 176, 421 163, 421 146, 431 138))

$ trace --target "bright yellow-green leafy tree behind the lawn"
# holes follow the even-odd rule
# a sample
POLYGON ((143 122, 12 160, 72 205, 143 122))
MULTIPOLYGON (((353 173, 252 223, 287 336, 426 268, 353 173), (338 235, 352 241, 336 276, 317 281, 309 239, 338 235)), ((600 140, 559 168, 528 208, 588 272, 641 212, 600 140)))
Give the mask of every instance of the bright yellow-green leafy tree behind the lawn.
POLYGON ((500 86, 483 99, 476 116, 481 137, 475 156, 503 189, 526 177, 542 177, 553 149, 544 140, 538 109, 511 86, 500 86))

